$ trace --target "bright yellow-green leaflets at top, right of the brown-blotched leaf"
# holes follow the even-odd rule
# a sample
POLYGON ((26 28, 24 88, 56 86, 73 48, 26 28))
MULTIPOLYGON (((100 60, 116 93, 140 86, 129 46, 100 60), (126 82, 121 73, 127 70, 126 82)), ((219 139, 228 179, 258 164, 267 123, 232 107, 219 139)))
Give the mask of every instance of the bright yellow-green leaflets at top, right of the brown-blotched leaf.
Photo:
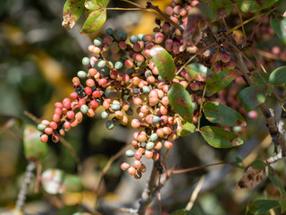
POLYGON ((109 0, 89 0, 85 3, 87 12, 89 13, 88 19, 84 22, 80 33, 92 33, 99 30, 106 20, 106 6, 109 0))

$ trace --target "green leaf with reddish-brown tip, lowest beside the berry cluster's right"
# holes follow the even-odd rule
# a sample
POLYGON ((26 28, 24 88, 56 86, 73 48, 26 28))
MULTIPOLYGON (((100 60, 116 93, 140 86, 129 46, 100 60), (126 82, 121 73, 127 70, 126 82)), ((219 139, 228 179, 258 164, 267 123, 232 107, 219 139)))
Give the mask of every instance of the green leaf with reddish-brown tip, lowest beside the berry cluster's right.
POLYGON ((199 132, 206 142, 214 148, 231 148, 243 143, 238 135, 219 127, 205 126, 200 128, 199 132))

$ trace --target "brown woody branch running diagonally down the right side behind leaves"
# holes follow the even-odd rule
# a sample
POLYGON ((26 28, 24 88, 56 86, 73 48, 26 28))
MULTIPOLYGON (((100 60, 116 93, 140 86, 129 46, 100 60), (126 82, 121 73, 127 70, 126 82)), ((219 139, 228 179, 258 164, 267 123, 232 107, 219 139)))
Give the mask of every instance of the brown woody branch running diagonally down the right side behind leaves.
MULTIPOLYGON (((223 29, 226 29, 226 30, 228 29, 227 24, 226 24, 224 19, 220 19, 219 22, 221 23, 221 26, 223 29)), ((227 39, 231 42, 232 41, 231 35, 227 35, 227 39)), ((236 66, 240 69, 240 72, 243 74, 243 76, 245 77, 248 84, 250 86, 255 85, 255 83, 251 80, 251 78, 248 75, 250 72, 249 72, 246 64, 244 64, 241 52, 238 51, 237 49, 233 49, 233 48, 232 48, 232 51, 233 51, 233 54, 236 58, 236 66)), ((270 112, 270 109, 266 106, 265 103, 260 104, 259 107, 260 107, 262 114, 265 116, 269 132, 270 132, 271 136, 273 137, 274 144, 279 144, 281 146, 282 156, 285 157, 286 156, 285 138, 282 135, 282 133, 279 132, 278 127, 276 125, 276 122, 275 122, 275 120, 274 120, 274 118, 270 112)))

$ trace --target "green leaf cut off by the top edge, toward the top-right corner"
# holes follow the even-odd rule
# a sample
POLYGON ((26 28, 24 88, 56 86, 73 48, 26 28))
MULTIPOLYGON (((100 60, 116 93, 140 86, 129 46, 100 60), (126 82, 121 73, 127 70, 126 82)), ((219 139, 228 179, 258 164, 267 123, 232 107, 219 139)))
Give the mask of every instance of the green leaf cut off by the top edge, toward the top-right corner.
POLYGON ((279 0, 256 0, 256 1, 239 0, 237 1, 236 4, 242 12, 255 13, 258 11, 262 11, 265 8, 273 6, 273 4, 278 1, 279 0))

